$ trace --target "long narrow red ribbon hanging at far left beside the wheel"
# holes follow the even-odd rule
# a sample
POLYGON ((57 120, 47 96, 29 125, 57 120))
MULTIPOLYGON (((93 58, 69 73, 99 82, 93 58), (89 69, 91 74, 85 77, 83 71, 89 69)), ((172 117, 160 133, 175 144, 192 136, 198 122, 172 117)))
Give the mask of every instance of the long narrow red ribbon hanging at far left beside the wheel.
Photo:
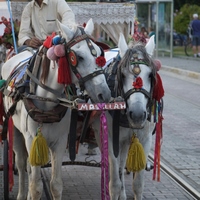
POLYGON ((8 174, 9 174, 9 190, 12 191, 14 185, 13 178, 13 121, 12 117, 8 120, 8 136, 9 136, 9 152, 8 152, 8 174))

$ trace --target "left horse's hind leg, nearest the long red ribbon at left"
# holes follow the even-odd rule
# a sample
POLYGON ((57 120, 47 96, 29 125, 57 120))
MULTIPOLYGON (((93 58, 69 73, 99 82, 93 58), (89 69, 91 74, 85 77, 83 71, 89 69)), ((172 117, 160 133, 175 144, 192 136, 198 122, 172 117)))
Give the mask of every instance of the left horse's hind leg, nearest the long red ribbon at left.
POLYGON ((16 127, 14 127, 13 150, 15 152, 15 163, 19 175, 19 188, 17 200, 24 200, 27 196, 25 191, 25 175, 28 154, 25 147, 24 137, 16 127))

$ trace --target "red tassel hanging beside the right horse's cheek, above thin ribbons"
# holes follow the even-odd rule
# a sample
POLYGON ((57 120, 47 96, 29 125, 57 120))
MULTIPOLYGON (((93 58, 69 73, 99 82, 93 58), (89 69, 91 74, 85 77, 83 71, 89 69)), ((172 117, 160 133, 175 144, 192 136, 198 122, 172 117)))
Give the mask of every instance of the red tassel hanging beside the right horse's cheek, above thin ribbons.
POLYGON ((153 89, 153 99, 159 102, 160 99, 164 96, 164 88, 162 84, 162 79, 158 73, 156 73, 156 79, 157 81, 153 89))

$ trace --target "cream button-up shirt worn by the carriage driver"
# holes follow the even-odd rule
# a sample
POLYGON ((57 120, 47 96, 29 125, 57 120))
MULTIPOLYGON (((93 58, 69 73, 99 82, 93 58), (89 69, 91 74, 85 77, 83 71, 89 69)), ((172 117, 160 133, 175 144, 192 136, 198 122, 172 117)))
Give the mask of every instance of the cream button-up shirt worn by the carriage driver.
POLYGON ((56 19, 70 28, 75 25, 75 15, 65 0, 43 0, 41 7, 35 0, 28 3, 21 17, 18 45, 33 37, 45 40, 57 32, 56 19))

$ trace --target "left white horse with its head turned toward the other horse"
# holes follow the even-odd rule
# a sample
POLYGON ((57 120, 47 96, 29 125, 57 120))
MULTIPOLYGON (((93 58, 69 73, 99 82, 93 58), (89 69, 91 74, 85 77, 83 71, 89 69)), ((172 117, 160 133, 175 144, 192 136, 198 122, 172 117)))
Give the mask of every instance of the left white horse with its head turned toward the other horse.
MULTIPOLYGON (((85 28, 80 28, 75 25, 74 30, 71 30, 60 22, 58 22, 58 27, 63 37, 61 41, 63 41, 65 45, 65 55, 69 58, 68 62, 70 65, 72 83, 77 87, 80 85, 80 89, 85 89, 84 91, 87 92, 93 102, 108 102, 111 98, 110 89, 106 84, 106 79, 101 68, 96 64, 96 58, 102 55, 102 50, 90 37, 94 29, 92 19, 88 21, 85 28)), ((29 57, 32 57, 32 53, 25 50, 9 59, 2 67, 2 78, 7 80, 13 69, 15 69, 21 61, 29 57)), ((40 81, 42 69, 39 69, 38 75, 36 75, 35 78, 29 73, 31 81, 36 82, 35 98, 32 99, 32 102, 38 110, 42 110, 44 113, 47 112, 48 117, 48 113, 59 105, 60 99, 67 99, 61 96, 61 94, 66 91, 65 85, 57 82, 59 67, 57 62, 51 61, 47 78, 43 83, 40 81), (60 96, 58 96, 59 94, 60 96)), ((26 99, 26 96, 23 98, 26 99)), ((4 97, 6 111, 13 105, 13 102, 15 102, 15 100, 11 97, 4 97)), ((61 110, 65 110, 65 107, 61 110)), ((71 112, 72 110, 68 109, 60 121, 42 123, 34 121, 29 116, 23 99, 20 98, 17 102, 12 118, 15 126, 14 152, 19 173, 18 200, 26 198, 39 200, 42 196, 43 183, 40 175, 40 166, 31 166, 28 163, 27 167, 27 158, 30 154, 31 144, 38 127, 41 127, 42 135, 47 141, 51 155, 51 193, 54 200, 62 199, 63 183, 61 166, 68 141, 71 112), (24 189, 26 168, 28 168, 29 179, 28 195, 24 189)), ((56 113, 50 114, 52 117, 56 115, 56 113)))

